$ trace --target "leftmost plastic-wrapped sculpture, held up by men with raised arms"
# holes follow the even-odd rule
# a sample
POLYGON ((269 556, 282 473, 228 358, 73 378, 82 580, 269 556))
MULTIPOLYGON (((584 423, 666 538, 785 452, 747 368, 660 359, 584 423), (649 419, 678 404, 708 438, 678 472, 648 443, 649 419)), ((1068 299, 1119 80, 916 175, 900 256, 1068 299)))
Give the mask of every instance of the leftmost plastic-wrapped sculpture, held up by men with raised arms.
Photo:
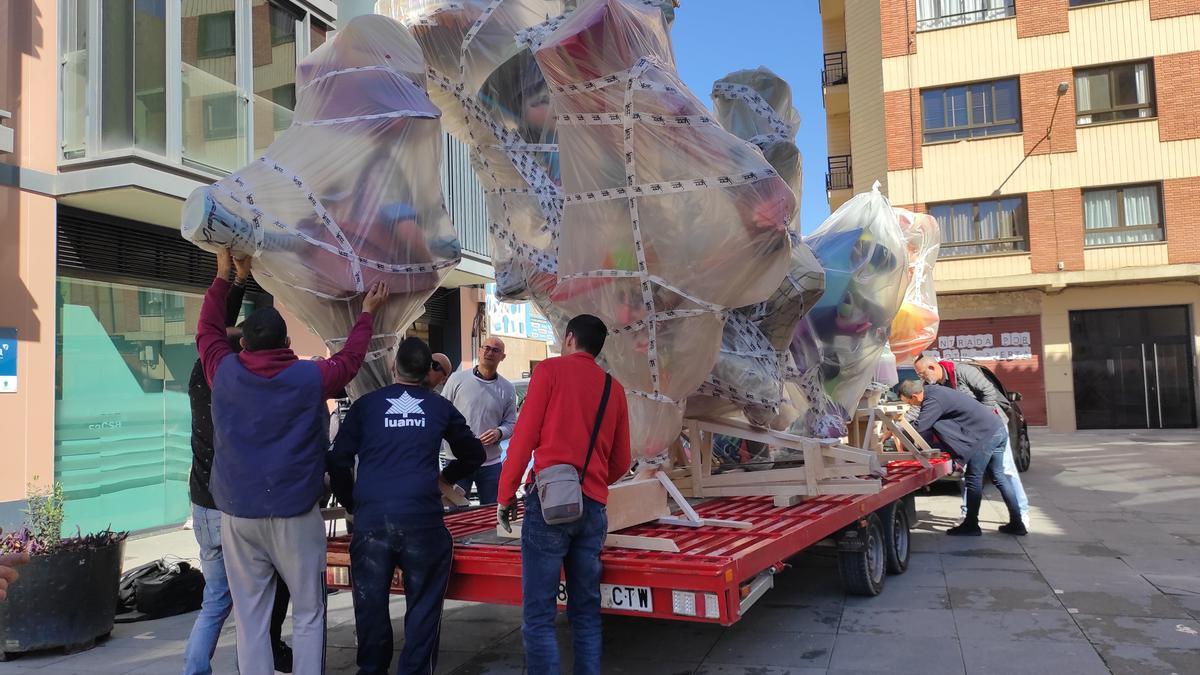
POLYGON ((442 201, 439 115, 404 26, 354 18, 296 67, 293 125, 184 205, 186 239, 254 256, 258 282, 331 350, 365 289, 388 283, 354 396, 392 381, 397 335, 461 257, 442 201))

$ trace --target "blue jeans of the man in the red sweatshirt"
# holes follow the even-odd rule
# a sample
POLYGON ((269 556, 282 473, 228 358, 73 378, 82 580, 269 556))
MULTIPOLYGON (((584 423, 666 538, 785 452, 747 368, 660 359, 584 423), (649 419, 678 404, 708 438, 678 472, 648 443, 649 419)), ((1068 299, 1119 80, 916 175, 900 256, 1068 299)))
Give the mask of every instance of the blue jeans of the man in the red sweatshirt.
POLYGON ((600 674, 600 549, 608 533, 604 504, 583 497, 583 516, 547 525, 538 491, 526 495, 521 525, 521 595, 526 669, 529 675, 558 675, 554 615, 558 583, 566 572, 566 617, 575 646, 575 675, 600 674))

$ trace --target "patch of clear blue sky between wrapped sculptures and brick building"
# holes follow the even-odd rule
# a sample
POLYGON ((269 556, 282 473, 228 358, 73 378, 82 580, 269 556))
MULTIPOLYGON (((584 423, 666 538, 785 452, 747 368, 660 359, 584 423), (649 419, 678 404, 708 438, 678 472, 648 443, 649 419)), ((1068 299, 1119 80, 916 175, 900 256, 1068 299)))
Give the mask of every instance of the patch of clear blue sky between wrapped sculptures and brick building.
POLYGON ((800 112, 797 144, 804 157, 800 229, 805 234, 829 215, 817 7, 812 0, 683 0, 671 31, 679 74, 702 101, 709 101, 713 82, 743 68, 767 66, 792 85, 800 112))

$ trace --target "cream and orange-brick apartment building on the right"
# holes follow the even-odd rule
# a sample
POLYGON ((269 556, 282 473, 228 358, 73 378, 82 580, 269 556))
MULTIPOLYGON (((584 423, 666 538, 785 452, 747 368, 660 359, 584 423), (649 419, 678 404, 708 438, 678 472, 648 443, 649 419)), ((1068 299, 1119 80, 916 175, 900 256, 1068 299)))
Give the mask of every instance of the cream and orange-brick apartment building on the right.
POLYGON ((830 209, 941 223, 941 334, 1055 430, 1195 428, 1200 1, 821 0, 830 209))

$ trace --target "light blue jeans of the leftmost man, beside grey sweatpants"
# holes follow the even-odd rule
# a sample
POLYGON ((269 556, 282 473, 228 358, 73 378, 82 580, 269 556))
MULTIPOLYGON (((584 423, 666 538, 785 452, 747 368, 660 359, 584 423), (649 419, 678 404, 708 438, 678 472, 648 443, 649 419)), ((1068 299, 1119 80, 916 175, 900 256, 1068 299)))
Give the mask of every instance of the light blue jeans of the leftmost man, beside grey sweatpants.
POLYGON ((229 579, 221 555, 221 512, 192 504, 192 532, 196 534, 196 543, 200 545, 204 602, 184 650, 184 675, 210 675, 221 627, 233 610, 229 579))

